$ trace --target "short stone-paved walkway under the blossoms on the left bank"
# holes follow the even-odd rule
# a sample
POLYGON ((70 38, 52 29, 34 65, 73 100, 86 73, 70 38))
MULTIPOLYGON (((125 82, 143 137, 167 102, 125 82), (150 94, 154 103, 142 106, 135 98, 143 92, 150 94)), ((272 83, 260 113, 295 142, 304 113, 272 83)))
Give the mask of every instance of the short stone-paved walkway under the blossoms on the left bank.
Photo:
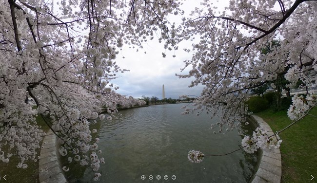
POLYGON ((67 183, 57 155, 56 138, 51 129, 44 137, 39 162, 40 183, 67 183), (42 171, 45 169, 47 171, 42 171))

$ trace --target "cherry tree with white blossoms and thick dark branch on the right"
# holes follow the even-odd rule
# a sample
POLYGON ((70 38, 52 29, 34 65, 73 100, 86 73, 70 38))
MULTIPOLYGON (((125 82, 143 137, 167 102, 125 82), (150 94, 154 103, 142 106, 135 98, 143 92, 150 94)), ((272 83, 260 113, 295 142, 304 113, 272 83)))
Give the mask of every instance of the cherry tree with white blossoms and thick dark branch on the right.
MULTIPOLYGON (((208 0, 201 4, 204 8, 195 9, 189 18, 183 18, 182 26, 175 28, 177 43, 191 40, 192 47, 184 51, 193 53, 184 61, 183 71, 189 68, 189 73, 178 76, 194 77, 190 87, 205 86, 195 106, 187 107, 184 113, 205 110, 220 114, 220 121, 211 129, 222 133, 245 123, 249 112, 245 101, 253 89, 284 77, 289 82, 285 88, 292 89, 301 81, 309 91, 314 79, 311 73, 317 72, 317 1, 231 0, 223 12, 217 12, 208 0), (269 45, 270 52, 261 54, 276 40, 280 46, 269 45)), ((273 83, 271 87, 276 88, 273 83)), ((313 93, 296 95, 288 116, 297 120, 314 106, 313 93)), ((272 145, 270 139, 263 140, 264 131, 258 129, 254 134, 251 141, 249 137, 242 141, 247 151, 272 145)), ((195 158, 190 157, 195 155, 201 154, 190 151, 188 157, 193 161, 195 158)))

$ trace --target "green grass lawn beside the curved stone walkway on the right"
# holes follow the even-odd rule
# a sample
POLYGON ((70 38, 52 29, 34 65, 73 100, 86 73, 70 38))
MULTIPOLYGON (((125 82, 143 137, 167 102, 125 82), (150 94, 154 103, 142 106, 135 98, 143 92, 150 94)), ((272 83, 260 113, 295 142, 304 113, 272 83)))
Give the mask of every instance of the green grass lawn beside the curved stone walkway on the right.
MULTIPOLYGON (((317 116, 317 107, 309 112, 317 116)), ((256 115, 266 121, 272 130, 278 131, 292 121, 287 111, 265 110, 256 115)), ((317 182, 317 117, 306 116, 291 128, 279 134, 283 140, 280 151, 282 157, 281 183, 317 182), (314 178, 312 181, 311 175, 314 178)))

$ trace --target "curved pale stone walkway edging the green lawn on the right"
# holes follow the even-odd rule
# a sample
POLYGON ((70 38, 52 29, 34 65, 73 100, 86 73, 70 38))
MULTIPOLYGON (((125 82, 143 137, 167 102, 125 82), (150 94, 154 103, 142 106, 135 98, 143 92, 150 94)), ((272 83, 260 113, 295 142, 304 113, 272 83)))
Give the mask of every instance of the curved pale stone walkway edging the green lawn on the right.
MULTIPOLYGON (((260 128, 264 128, 269 136, 274 134, 271 127, 262 118, 252 115, 251 120, 258 123, 260 128)), ((276 137, 274 138, 277 140, 276 137)), ((282 162, 279 148, 262 150, 258 171, 252 183, 280 183, 281 175, 282 162)))

